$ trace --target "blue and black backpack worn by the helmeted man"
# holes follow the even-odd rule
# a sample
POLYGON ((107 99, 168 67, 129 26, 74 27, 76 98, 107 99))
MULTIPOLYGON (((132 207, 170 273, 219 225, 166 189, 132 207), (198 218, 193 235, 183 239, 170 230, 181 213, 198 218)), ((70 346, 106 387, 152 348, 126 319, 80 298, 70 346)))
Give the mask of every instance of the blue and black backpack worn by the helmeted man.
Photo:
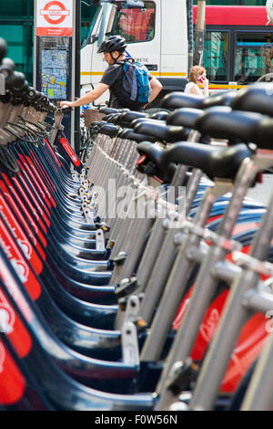
POLYGON ((134 59, 121 63, 123 75, 121 85, 114 89, 116 99, 128 109, 143 108, 149 100, 150 85, 149 72, 144 64, 134 59))

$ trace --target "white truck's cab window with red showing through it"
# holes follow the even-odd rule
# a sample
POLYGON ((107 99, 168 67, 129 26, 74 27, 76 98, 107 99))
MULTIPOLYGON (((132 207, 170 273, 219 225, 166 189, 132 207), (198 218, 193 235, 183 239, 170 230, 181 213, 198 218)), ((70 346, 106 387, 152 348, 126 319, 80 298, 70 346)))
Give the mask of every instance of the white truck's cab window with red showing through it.
POLYGON ((125 37, 127 43, 149 42, 155 36, 156 6, 145 2, 145 9, 130 9, 126 2, 117 5, 111 35, 125 37))

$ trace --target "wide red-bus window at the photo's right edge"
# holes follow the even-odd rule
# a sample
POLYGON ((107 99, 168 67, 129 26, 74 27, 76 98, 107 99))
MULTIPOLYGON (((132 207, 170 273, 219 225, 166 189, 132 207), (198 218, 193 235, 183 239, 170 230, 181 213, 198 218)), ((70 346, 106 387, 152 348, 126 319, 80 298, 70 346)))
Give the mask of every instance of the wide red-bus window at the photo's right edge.
POLYGON ((235 58, 235 80, 238 83, 256 82, 268 73, 271 42, 271 34, 238 34, 235 58))

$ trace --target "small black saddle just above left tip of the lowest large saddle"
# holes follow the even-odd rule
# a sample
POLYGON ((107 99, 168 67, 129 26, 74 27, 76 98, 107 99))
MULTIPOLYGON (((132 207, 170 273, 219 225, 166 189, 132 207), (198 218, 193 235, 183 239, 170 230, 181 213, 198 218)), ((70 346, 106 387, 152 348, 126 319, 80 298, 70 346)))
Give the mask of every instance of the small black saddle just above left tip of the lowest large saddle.
POLYGON ((157 137, 159 141, 181 141, 187 138, 182 127, 165 125, 164 123, 143 122, 134 127, 134 131, 157 137))

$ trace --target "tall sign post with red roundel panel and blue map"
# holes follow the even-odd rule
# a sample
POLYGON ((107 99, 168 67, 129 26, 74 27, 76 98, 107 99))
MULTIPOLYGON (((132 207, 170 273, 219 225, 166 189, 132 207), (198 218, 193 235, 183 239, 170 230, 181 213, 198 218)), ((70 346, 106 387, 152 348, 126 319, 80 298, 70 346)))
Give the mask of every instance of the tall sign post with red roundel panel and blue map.
MULTIPOLYGON (((34 87, 54 103, 75 99, 76 0, 35 0, 34 87)), ((75 112, 63 123, 75 147, 75 112)))

